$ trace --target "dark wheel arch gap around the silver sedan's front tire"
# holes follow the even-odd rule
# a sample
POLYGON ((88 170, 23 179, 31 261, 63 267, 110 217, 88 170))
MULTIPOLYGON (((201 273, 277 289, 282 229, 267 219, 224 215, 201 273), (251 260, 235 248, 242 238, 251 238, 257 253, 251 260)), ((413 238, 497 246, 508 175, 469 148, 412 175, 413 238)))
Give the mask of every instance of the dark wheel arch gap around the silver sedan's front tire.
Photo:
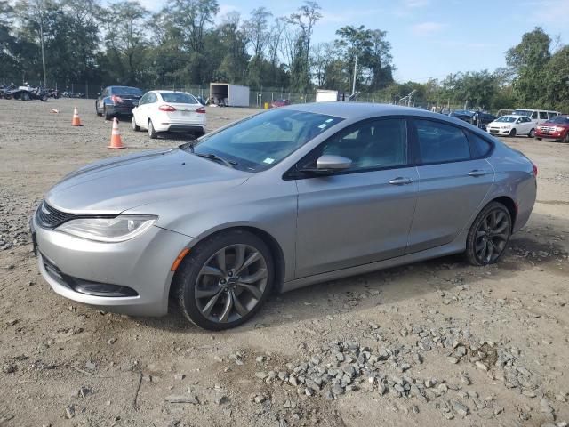
MULTIPOLYGON (((267 231, 261 230, 258 227, 250 225, 236 225, 236 226, 226 227, 220 230, 212 230, 212 232, 204 234, 192 247, 198 246, 206 238, 211 238, 212 236, 216 236, 218 234, 227 233, 228 231, 234 231, 234 230, 247 231, 260 238, 265 243, 265 245, 268 246, 268 250, 270 251, 270 254, 273 256, 273 262, 275 264, 275 286, 273 287, 273 291, 275 293, 280 293, 283 289, 283 284, 284 284, 284 268, 285 268, 284 252, 282 247, 276 241, 276 238, 274 238, 267 231)), ((191 250, 188 254, 191 254, 191 250)), ((183 262, 184 261, 182 261, 182 263, 183 262)), ((174 272, 174 275, 172 276, 172 281, 169 290, 169 296, 171 297, 176 292, 180 270, 181 269, 178 268, 174 272)))

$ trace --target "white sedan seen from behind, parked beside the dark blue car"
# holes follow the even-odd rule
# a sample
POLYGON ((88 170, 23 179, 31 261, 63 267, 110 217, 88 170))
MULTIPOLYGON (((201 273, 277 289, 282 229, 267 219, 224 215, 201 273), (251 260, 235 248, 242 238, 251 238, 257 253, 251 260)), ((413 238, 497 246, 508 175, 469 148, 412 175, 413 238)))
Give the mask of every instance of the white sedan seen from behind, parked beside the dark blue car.
POLYGON ((150 91, 132 109, 132 129, 147 129, 152 139, 160 132, 205 133, 205 108, 194 95, 173 91, 150 91))

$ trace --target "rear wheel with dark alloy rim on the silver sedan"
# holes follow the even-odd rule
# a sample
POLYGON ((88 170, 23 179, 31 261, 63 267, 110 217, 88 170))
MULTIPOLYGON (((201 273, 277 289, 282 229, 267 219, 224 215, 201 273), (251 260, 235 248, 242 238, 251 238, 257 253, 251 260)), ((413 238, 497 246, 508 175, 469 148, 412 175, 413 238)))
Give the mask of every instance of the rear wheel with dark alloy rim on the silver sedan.
POLYGON ((508 246, 512 219, 506 206, 492 202, 478 214, 470 227, 466 255, 472 265, 497 262, 508 246))

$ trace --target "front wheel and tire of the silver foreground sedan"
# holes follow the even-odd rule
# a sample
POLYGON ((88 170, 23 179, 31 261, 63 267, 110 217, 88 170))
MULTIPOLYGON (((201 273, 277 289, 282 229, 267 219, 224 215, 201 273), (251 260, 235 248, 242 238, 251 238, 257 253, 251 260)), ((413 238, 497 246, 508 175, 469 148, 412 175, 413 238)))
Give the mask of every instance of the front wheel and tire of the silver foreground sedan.
POLYGON ((206 238, 176 273, 180 309, 204 329, 241 325, 266 302, 273 265, 268 246, 252 233, 233 230, 206 238))

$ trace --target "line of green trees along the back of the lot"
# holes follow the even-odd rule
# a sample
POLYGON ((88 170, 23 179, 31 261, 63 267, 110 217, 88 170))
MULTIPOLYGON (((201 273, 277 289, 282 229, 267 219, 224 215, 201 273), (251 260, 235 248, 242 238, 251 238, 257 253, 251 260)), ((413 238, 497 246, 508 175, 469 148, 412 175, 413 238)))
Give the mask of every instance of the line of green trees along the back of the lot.
POLYGON ((428 108, 569 111, 569 46, 541 28, 509 49, 505 68, 397 83, 385 31, 350 25, 338 28, 333 41, 315 43, 322 17, 315 1, 286 16, 264 6, 220 16, 217 0, 166 0, 158 12, 137 0, 0 0, 0 77, 40 83, 45 64, 47 85, 222 81, 293 93, 317 87, 351 93, 355 86, 366 99, 384 102, 415 90, 415 104, 428 108))

